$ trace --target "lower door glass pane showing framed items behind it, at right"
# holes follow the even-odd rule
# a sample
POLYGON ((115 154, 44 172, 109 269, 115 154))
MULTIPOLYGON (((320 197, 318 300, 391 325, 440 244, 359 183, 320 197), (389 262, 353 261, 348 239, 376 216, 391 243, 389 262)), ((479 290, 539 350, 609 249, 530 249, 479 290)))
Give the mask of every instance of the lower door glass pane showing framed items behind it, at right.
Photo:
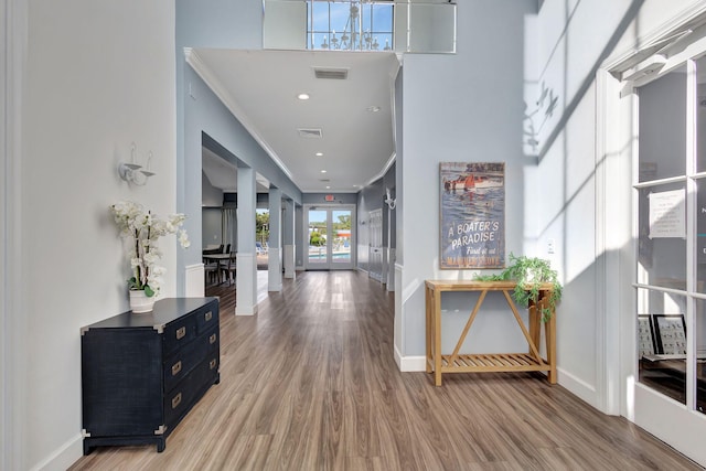
POLYGON ((686 404, 686 298, 638 289, 640 382, 686 404))

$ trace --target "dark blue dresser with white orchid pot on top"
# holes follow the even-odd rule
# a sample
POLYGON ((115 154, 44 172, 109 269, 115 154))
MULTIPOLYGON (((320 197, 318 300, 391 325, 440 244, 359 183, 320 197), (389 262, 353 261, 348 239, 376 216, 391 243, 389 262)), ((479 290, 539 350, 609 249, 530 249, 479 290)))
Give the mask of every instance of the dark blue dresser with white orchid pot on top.
POLYGON ((81 330, 84 454, 157 445, 220 382, 217 298, 168 298, 81 330))

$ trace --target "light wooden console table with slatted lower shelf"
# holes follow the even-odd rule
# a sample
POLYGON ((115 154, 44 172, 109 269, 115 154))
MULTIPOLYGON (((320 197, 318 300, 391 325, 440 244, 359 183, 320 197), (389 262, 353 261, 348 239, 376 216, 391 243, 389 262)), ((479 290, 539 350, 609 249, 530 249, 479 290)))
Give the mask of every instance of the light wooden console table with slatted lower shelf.
POLYGON ((453 281, 453 280, 426 280, 426 320, 427 320, 427 373, 434 372, 434 382, 441 386, 442 373, 481 373, 481 372, 547 372, 547 379, 556 384, 556 313, 546 322, 542 322, 542 308, 548 307, 548 297, 552 285, 542 285, 539 301, 530 306, 528 324, 525 327, 511 292, 515 289, 514 281, 453 281), (456 347, 451 354, 441 352, 441 295, 446 291, 479 291, 473 310, 469 314, 468 322, 461 332, 456 347), (462 354, 459 353, 475 314, 489 291, 502 291, 507 300, 512 313, 522 329, 522 333, 530 346, 528 353, 492 353, 492 354, 462 354), (546 358, 539 355, 538 345, 541 339, 541 325, 544 324, 546 340, 546 358))

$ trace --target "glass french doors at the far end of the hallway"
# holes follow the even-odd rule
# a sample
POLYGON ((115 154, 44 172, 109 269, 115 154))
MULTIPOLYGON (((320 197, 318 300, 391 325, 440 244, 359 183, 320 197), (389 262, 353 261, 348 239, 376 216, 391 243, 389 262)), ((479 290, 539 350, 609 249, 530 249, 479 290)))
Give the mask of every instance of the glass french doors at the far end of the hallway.
POLYGON ((304 205, 304 268, 353 269, 355 206, 304 205))

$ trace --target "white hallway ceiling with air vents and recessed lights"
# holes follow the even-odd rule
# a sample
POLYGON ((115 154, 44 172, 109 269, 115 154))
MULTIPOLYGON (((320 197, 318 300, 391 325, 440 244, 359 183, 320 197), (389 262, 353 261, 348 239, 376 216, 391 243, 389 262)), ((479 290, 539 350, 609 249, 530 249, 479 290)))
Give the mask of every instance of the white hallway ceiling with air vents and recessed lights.
MULTIPOLYGON (((394 159, 395 53, 196 49, 189 63, 304 193, 356 192, 394 159), (315 78, 314 67, 347 69, 347 78, 315 78), (299 129, 320 129, 321 138, 299 129)), ((204 172, 233 191, 213 157, 204 172)))

